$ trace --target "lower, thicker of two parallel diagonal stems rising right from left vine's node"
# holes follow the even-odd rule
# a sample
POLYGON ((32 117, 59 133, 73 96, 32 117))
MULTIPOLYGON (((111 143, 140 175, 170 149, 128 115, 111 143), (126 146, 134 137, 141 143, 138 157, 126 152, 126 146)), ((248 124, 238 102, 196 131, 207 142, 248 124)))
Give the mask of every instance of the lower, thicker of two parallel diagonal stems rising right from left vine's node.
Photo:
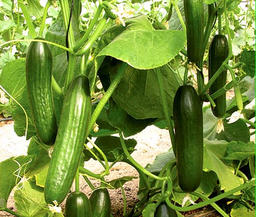
POLYGON ((93 46, 93 44, 95 43, 99 35, 102 33, 104 27, 106 26, 107 20, 108 20, 108 16, 105 14, 101 19, 101 21, 99 22, 97 28, 91 35, 91 37, 88 39, 85 45, 78 52, 76 52, 76 55, 83 55, 90 50, 90 48, 93 46))

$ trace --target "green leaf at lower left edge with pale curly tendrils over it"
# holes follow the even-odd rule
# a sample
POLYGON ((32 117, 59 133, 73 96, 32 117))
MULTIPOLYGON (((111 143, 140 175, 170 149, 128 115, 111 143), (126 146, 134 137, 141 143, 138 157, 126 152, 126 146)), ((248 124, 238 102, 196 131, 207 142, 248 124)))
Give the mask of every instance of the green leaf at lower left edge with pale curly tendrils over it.
POLYGON ((11 190, 28 172, 34 161, 35 156, 19 156, 0 163, 0 208, 6 206, 11 190))

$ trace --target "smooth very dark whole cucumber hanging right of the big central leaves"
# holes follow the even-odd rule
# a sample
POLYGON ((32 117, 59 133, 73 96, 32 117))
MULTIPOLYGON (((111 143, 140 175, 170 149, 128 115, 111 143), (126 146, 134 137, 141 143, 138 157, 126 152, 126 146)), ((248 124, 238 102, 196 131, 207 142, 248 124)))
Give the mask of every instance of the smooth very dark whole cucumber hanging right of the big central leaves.
POLYGON ((185 192, 196 190, 203 169, 202 104, 191 85, 180 86, 173 101, 178 183, 185 192))

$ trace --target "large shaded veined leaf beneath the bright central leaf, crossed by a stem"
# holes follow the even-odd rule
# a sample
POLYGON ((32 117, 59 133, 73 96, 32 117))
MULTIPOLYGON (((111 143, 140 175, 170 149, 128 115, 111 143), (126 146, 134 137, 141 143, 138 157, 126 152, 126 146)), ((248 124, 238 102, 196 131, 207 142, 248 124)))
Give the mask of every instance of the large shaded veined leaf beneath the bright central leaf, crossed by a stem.
MULTIPOLYGON (((167 106, 172 115, 173 98, 180 83, 167 65, 160 67, 160 73, 167 106)), ((113 70, 110 78, 112 79, 114 76, 113 70)), ((153 69, 138 70, 128 66, 112 97, 121 108, 135 119, 164 116, 157 75, 153 69)))

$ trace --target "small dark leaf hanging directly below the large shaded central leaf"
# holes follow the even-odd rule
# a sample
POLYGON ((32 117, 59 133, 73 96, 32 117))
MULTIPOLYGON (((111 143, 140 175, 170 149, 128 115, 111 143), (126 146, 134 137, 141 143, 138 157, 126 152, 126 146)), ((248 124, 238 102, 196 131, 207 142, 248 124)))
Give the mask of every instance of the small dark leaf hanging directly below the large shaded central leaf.
POLYGON ((109 109, 107 110, 109 123, 121 130, 125 137, 135 135, 144 130, 148 125, 154 122, 154 118, 135 119, 130 116, 124 109, 118 106, 115 101, 110 98, 109 109))

